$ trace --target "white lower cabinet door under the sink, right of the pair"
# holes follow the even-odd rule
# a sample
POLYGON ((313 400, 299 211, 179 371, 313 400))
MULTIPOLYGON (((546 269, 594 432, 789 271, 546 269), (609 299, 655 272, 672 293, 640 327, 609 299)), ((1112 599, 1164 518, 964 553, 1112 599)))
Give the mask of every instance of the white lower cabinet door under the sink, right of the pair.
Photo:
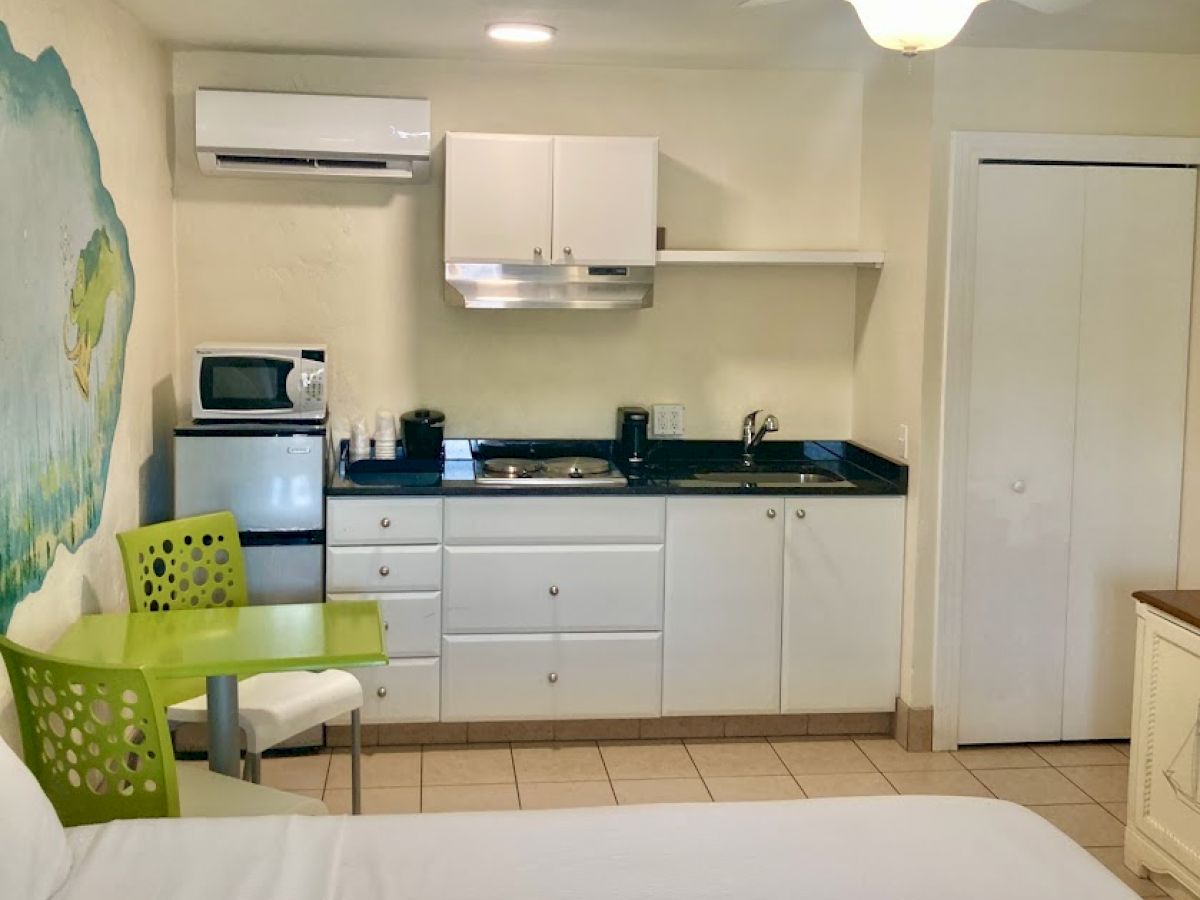
POLYGON ((787 502, 782 710, 890 710, 900 686, 902 497, 787 502))

